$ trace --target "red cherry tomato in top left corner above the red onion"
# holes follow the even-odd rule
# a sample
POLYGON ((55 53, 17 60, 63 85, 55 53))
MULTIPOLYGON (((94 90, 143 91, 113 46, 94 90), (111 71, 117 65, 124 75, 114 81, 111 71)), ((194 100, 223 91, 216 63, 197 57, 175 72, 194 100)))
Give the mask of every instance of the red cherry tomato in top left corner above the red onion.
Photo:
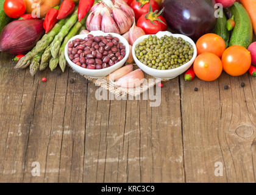
POLYGON ((4 12, 10 18, 20 18, 26 12, 24 0, 5 0, 4 12))

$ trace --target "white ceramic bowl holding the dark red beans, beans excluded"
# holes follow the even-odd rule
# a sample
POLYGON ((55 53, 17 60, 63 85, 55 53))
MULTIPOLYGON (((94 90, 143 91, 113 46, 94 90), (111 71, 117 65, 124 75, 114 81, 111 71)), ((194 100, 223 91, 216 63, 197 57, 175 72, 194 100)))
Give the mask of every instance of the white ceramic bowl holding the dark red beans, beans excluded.
POLYGON ((121 68, 121 66, 124 65, 124 63, 126 63, 126 60, 129 57, 130 54, 130 46, 129 43, 127 42, 127 40, 122 37, 121 35, 115 34, 115 33, 105 33, 102 32, 100 30, 97 31, 91 31, 90 32, 91 35, 93 36, 106 36, 108 34, 112 35, 113 37, 117 37, 119 38, 119 42, 123 43, 124 46, 126 46, 126 56, 123 58, 123 60, 121 60, 120 62, 116 63, 113 66, 110 66, 108 68, 104 68, 104 69, 87 69, 87 68, 82 68, 80 66, 77 66, 75 63, 73 63, 68 56, 68 43, 70 41, 75 40, 76 38, 81 38, 84 39, 85 37, 87 37, 88 34, 84 34, 84 35, 76 35, 73 38, 71 38, 68 43, 65 46, 65 57, 66 57, 66 61, 69 63, 69 65, 77 72, 83 75, 86 75, 88 77, 92 77, 92 78, 102 78, 105 76, 108 76, 108 74, 113 73, 113 71, 115 71, 118 68, 121 68))

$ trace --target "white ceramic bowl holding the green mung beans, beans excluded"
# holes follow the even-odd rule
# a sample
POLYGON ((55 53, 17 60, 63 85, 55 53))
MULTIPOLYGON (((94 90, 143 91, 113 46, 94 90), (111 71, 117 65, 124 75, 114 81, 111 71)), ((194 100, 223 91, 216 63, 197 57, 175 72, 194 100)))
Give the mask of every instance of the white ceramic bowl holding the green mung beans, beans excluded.
POLYGON ((135 54, 135 46, 139 43, 141 43, 145 38, 148 38, 149 35, 144 35, 140 38, 138 38, 135 43, 133 43, 132 46, 132 56, 133 59, 135 60, 135 63, 137 63, 137 65, 140 67, 140 69, 142 69, 145 73, 156 77, 156 78, 160 78, 160 79, 174 79, 175 77, 179 76, 182 73, 185 73, 185 71, 187 71, 187 69, 190 68, 191 65, 193 65, 194 60, 196 59, 197 56, 197 51, 196 51, 196 44, 194 43, 193 40, 191 40, 191 38, 185 36, 185 35, 181 35, 181 34, 172 34, 171 32, 168 31, 161 31, 158 32, 156 34, 156 36, 158 38, 161 38, 163 36, 171 36, 172 37, 181 37, 183 38, 183 40, 188 41, 194 49, 194 55, 192 57, 192 59, 190 60, 190 62, 185 63, 184 65, 178 67, 178 68, 174 68, 174 69, 167 69, 167 70, 161 70, 161 69, 154 69, 154 68, 150 68, 147 65, 144 65, 143 63, 140 62, 140 60, 137 59, 136 54, 135 54))

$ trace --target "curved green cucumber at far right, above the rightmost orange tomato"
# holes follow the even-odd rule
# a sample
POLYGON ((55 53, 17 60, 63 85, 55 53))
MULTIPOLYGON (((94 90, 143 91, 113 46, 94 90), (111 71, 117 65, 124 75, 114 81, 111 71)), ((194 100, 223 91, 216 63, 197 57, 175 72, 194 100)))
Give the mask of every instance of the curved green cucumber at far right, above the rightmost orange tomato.
POLYGON ((244 9, 243 5, 239 2, 235 2, 230 10, 234 16, 235 27, 233 29, 229 45, 240 45, 247 49, 252 43, 253 38, 251 18, 246 9, 244 9))

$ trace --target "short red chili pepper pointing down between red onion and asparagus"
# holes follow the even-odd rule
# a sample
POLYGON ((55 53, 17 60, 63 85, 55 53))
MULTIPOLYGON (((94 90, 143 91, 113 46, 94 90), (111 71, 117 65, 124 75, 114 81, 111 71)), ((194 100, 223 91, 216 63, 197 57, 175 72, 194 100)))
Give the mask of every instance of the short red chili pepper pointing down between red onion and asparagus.
POLYGON ((50 9, 46 13, 46 16, 45 16, 44 21, 43 21, 43 28, 45 30, 45 33, 48 33, 49 30, 51 30, 52 27, 54 27, 54 25, 57 23, 58 13, 59 13, 59 6, 56 6, 52 9, 50 9))

